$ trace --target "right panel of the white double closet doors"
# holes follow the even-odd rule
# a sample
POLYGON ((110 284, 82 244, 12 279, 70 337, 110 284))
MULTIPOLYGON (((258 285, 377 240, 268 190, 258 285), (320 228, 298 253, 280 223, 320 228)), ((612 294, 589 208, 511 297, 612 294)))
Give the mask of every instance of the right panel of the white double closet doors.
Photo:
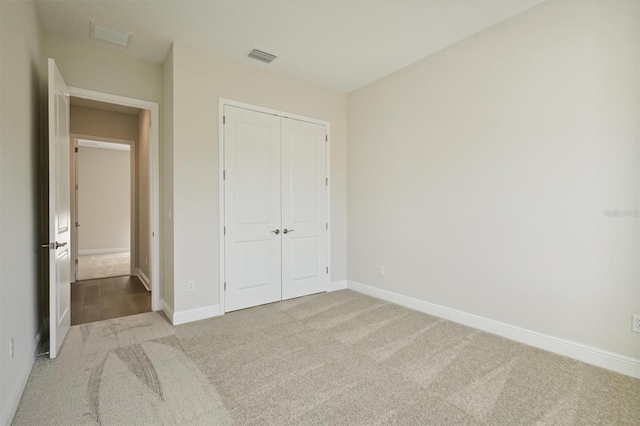
POLYGON ((282 299, 328 289, 327 130, 282 119, 282 299))

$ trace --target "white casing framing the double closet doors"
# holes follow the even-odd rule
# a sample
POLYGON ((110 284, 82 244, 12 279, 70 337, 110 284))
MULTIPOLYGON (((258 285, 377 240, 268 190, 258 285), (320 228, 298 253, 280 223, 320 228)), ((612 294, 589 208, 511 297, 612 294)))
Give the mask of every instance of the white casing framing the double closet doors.
POLYGON ((236 108, 242 108, 250 111, 261 112, 264 114, 277 115, 278 117, 290 118, 293 120, 306 121, 308 123, 320 124, 327 129, 327 223, 329 229, 327 232, 327 267, 329 268, 329 274, 327 276, 328 283, 331 282, 331 123, 324 120, 318 120, 303 115, 293 114, 290 112, 280 111, 272 108, 261 107, 258 105, 252 105, 245 102, 234 101, 226 98, 218 98, 218 205, 219 210, 219 229, 218 229, 218 242, 220 250, 220 315, 224 315, 226 312, 225 306, 225 249, 224 249, 224 226, 225 226, 225 194, 224 194, 224 107, 232 106, 236 108))

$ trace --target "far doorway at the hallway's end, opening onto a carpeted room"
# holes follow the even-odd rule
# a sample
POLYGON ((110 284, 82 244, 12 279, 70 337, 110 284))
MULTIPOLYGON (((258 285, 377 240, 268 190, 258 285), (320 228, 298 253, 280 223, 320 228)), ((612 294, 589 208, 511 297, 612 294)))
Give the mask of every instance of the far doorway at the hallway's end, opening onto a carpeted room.
POLYGON ((135 275, 135 141, 74 142, 75 281, 135 275))

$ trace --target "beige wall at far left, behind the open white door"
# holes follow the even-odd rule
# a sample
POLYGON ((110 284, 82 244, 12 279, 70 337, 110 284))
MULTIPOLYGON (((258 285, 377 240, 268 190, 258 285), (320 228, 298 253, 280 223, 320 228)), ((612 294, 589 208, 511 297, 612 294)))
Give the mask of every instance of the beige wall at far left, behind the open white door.
POLYGON ((0 424, 11 424, 45 310, 38 26, 33 2, 0 2, 0 424), (15 358, 10 360, 12 337, 15 358))

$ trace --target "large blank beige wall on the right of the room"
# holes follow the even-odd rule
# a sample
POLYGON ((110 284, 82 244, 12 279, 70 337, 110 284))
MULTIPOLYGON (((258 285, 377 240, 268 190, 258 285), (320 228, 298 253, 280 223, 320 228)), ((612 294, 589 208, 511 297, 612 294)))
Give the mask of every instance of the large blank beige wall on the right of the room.
POLYGON ((640 358, 638 48, 546 3, 350 93, 349 279, 640 358))

